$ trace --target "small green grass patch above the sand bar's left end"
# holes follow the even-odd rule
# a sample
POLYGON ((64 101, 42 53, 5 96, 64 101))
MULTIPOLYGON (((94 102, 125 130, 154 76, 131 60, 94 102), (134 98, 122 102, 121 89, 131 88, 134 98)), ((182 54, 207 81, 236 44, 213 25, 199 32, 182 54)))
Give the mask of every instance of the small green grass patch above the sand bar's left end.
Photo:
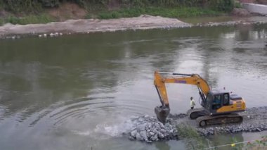
POLYGON ((40 14, 40 15, 26 15, 25 17, 15 17, 14 15, 10 15, 5 19, 0 20, 0 25, 4 23, 12 23, 13 25, 27 25, 27 24, 36 24, 36 23, 50 23, 53 22, 54 19, 51 18, 47 14, 40 14))

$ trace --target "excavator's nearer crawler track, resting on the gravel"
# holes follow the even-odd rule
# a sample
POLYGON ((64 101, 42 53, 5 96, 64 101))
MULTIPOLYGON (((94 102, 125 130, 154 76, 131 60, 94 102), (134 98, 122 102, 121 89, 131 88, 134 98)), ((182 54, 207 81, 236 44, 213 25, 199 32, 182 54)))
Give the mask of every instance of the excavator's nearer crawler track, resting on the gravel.
POLYGON ((207 125, 223 125, 228 123, 242 123, 242 116, 232 113, 228 115, 201 116, 196 119, 200 127, 207 125))

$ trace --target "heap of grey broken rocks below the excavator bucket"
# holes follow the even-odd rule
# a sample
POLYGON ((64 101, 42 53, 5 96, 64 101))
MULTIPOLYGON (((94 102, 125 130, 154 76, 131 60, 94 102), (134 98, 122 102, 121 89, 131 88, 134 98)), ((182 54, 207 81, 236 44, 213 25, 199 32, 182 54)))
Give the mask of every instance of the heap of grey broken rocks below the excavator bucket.
POLYGON ((178 139, 176 123, 168 119, 163 125, 157 118, 144 115, 132 120, 133 128, 129 133, 129 139, 144 142, 153 142, 159 140, 178 139))

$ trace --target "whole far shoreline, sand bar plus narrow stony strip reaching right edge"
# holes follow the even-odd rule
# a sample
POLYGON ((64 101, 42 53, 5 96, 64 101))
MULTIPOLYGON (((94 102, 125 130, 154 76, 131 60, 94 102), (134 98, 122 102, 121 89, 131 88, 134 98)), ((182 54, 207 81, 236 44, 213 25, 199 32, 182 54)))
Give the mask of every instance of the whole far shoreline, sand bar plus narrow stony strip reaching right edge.
POLYGON ((55 37, 70 34, 89 34, 92 32, 115 32, 124 30, 171 29, 184 27, 213 27, 227 25, 266 24, 267 17, 236 18, 226 22, 185 23, 176 18, 141 15, 135 18, 118 19, 81 19, 66 20, 65 22, 0 26, 0 39, 19 39, 20 37, 55 37), (45 36, 44 36, 45 35, 45 36))

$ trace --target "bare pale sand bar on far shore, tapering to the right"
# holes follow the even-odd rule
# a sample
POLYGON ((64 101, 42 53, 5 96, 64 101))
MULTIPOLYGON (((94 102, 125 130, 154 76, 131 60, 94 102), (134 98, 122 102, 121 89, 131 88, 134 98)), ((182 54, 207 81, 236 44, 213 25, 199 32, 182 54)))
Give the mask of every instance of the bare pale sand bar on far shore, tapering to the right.
POLYGON ((67 20, 65 22, 35 24, 35 25, 11 25, 0 27, 0 38, 8 35, 37 35, 51 32, 81 33, 81 32, 112 32, 117 30, 153 29, 162 27, 188 27, 178 19, 162 18, 151 15, 141 15, 136 18, 119 18, 110 20, 80 19, 67 20))

